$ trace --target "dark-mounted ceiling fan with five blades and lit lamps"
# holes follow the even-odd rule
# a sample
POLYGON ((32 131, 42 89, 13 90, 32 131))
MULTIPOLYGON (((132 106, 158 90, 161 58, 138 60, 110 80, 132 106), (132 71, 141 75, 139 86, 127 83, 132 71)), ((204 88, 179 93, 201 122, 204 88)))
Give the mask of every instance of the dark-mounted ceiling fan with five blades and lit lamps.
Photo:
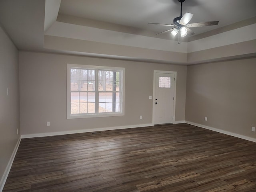
MULTIPOLYGON (((149 24, 173 27, 172 29, 168 29, 161 33, 171 32, 172 35, 175 36, 178 32, 180 32, 181 37, 185 37, 186 35, 194 35, 195 34, 191 29, 189 29, 190 27, 204 27, 204 26, 210 26, 210 25, 218 25, 218 23, 219 23, 218 21, 188 24, 188 22, 190 22, 190 20, 192 19, 193 14, 185 13, 184 16, 182 16, 182 3, 184 1, 185 0, 178 0, 178 2, 181 3, 180 16, 174 18, 173 24, 157 24, 157 23, 149 23, 149 24)), ((157 33, 156 35, 161 34, 161 33, 157 33)))

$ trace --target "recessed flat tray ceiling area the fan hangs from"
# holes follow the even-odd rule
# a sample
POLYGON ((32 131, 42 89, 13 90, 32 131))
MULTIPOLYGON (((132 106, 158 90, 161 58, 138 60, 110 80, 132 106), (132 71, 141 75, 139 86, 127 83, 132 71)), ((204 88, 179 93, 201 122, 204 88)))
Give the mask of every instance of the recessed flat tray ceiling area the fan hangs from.
MULTIPOLYGON (((256 0, 186 0, 182 15, 194 14, 190 23, 219 21, 218 25, 196 27, 196 34, 256 16, 256 0)), ((62 0, 59 13, 126 25, 156 32, 170 27, 148 23, 173 24, 180 16, 178 0, 62 0)))

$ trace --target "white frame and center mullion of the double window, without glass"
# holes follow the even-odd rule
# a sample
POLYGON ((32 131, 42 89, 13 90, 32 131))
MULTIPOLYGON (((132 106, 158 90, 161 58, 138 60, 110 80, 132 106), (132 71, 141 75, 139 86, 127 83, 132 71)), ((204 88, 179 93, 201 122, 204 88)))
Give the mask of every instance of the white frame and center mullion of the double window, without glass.
MULTIPOLYGON (((111 117, 111 116, 124 116, 124 85, 125 85, 125 68, 122 67, 104 67, 104 66, 94 66, 94 65, 78 65, 78 64, 68 64, 67 63, 67 119, 77 119, 77 118, 97 118, 97 117, 111 117), (120 91, 120 112, 105 112, 105 113, 89 113, 89 114, 71 114, 71 88, 70 88, 70 69, 89 69, 89 70, 96 70, 96 84, 98 84, 98 70, 105 70, 105 71, 120 71, 122 73, 120 78, 120 83, 122 84, 120 91)), ((98 94, 98 86, 95 88, 95 95, 98 94)), ((97 103, 97 96, 95 96, 95 102, 97 103)), ((95 103, 95 104, 96 104, 95 103)), ((96 104, 97 105, 97 104, 96 104)))

